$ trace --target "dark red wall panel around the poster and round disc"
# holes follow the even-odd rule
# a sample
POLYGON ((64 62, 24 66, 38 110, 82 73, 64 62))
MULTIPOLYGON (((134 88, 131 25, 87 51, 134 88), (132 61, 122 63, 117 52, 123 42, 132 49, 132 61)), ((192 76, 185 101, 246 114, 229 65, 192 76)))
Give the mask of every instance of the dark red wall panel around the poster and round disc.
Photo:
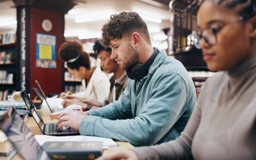
MULTIPOLYGON (((49 35, 57 36, 57 52, 62 44, 62 15, 61 13, 49 12, 46 10, 40 10, 38 8, 31 8, 30 17, 30 88, 36 86, 35 80, 37 79, 40 86, 44 90, 47 96, 50 92, 61 92, 61 60, 58 57, 56 59, 56 68, 36 68, 36 33, 45 33, 49 35), (42 22, 45 19, 49 19, 52 22, 51 31, 44 31, 42 28, 42 22)), ((35 93, 30 90, 31 99, 35 98, 35 93)))

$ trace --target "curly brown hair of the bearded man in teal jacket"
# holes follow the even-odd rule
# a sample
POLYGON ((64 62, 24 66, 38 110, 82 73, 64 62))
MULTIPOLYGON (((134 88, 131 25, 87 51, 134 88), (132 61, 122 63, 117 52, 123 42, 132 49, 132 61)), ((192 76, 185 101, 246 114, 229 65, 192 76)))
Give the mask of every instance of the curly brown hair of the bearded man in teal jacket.
POLYGON ((111 40, 120 40, 123 36, 131 36, 137 32, 147 42, 151 44, 147 24, 136 12, 121 12, 110 16, 110 20, 102 26, 102 38, 100 44, 105 48, 111 45, 111 40))

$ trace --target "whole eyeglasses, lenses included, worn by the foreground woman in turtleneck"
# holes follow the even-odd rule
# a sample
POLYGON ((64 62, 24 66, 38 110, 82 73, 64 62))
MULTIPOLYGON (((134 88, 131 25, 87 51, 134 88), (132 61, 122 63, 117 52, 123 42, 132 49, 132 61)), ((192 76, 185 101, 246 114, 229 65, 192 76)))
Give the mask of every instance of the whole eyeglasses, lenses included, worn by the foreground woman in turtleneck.
POLYGON ((207 44, 214 45, 214 44, 217 43, 217 36, 216 35, 217 35, 218 31, 220 31, 220 29, 223 28, 223 26, 225 26, 227 24, 234 23, 234 22, 239 22, 239 21, 242 21, 242 20, 250 19, 253 16, 254 15, 246 15, 245 17, 239 17, 239 19, 232 20, 230 22, 222 22, 221 24, 214 24, 214 25, 210 26, 209 28, 203 29, 202 33, 200 33, 200 32, 192 33, 190 35, 191 42, 193 42, 193 45, 195 45, 195 47, 197 49, 201 49, 200 40, 202 38, 204 38, 204 41, 207 44))

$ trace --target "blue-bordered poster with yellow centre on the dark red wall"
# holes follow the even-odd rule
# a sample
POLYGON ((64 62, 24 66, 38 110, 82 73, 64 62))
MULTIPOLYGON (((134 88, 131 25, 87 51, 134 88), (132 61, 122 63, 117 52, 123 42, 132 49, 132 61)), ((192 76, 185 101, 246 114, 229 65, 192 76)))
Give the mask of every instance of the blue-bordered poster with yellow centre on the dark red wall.
POLYGON ((36 68, 56 68, 56 35, 36 33, 36 68))

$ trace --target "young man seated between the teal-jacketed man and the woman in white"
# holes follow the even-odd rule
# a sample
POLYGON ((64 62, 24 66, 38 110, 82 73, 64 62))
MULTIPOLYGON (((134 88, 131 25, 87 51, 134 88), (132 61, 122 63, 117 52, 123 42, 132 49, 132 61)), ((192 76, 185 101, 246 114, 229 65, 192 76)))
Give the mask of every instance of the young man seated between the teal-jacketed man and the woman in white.
POLYGON ((110 82, 110 90, 108 97, 104 100, 104 102, 92 102, 87 99, 74 99, 72 95, 67 96, 67 99, 63 100, 63 108, 70 106, 72 104, 77 104, 82 106, 82 108, 89 108, 88 104, 92 104, 90 109, 98 109, 102 108, 115 100, 118 100, 119 97, 124 92, 125 88, 127 87, 127 83, 129 77, 126 76, 125 70, 121 70, 119 65, 116 63, 115 60, 111 59, 111 48, 104 48, 99 40, 96 40, 93 45, 93 51, 98 54, 98 58, 100 59, 100 67, 107 73, 114 75, 109 79, 110 82))

